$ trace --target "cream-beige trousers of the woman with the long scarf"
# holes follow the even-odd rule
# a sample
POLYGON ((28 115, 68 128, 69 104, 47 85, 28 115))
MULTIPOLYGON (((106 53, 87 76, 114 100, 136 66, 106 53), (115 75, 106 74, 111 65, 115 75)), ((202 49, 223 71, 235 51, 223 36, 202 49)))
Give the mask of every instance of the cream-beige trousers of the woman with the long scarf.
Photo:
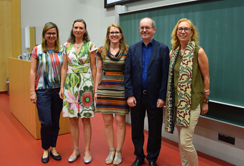
POLYGON ((195 110, 191 110, 190 126, 177 126, 179 137, 179 149, 182 166, 198 166, 197 152, 192 144, 192 136, 200 116, 200 104, 195 110))

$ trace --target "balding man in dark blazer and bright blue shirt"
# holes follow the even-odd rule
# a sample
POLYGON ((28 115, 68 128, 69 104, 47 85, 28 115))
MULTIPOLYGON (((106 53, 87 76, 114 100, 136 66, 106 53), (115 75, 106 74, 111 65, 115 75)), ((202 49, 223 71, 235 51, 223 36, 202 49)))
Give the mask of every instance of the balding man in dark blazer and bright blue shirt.
POLYGON ((129 47, 125 63, 125 96, 131 107, 132 141, 136 160, 131 166, 144 163, 144 118, 148 115, 149 137, 147 160, 157 166, 161 149, 163 106, 165 105, 169 48, 154 40, 156 26, 151 18, 140 21, 142 41, 129 47))

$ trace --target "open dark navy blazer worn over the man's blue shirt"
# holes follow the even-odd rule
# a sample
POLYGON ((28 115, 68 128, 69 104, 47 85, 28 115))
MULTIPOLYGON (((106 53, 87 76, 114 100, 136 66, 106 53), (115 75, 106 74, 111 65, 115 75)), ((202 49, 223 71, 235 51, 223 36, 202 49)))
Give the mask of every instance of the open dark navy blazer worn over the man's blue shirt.
MULTIPOLYGON (((152 108, 157 107, 157 100, 166 99, 167 80, 169 71, 168 46, 153 41, 147 72, 148 100, 152 108)), ((141 98, 142 79, 142 43, 138 42, 129 47, 125 62, 125 96, 134 96, 137 105, 141 98)))

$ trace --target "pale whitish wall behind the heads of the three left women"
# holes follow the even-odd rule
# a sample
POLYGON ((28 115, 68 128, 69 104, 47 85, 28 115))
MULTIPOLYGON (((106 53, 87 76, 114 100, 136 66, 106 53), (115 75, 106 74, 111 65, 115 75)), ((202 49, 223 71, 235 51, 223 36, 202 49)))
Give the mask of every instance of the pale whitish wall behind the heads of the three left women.
POLYGON ((57 24, 61 43, 69 37, 73 21, 82 18, 87 23, 91 41, 103 45, 107 26, 114 22, 114 10, 104 9, 102 0, 21 0, 21 41, 24 47, 24 27, 36 27, 36 44, 40 44, 45 23, 57 24))

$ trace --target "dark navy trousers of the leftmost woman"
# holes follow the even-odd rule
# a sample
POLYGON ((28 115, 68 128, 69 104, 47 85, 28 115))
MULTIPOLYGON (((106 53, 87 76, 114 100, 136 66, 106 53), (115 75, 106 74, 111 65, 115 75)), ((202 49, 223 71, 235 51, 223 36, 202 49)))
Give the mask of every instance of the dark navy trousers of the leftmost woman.
POLYGON ((59 88, 36 90, 38 117, 41 122, 42 148, 56 147, 59 118, 63 100, 59 97, 59 88))

